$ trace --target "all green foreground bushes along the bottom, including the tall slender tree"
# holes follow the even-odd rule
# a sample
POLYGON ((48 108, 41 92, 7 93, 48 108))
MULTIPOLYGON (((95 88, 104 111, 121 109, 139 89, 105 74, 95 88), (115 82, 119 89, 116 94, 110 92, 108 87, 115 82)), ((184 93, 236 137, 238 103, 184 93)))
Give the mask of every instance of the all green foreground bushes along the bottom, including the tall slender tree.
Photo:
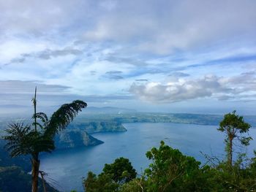
POLYGON ((89 172, 83 180, 84 188, 87 192, 256 191, 256 158, 240 153, 233 161, 233 142, 249 145, 252 138, 244 136, 249 128, 235 111, 225 115, 218 129, 227 137, 225 161, 206 156, 208 164, 201 165, 195 158, 161 142, 159 148, 153 147, 146 153, 152 163, 138 177, 129 159, 118 158, 113 164, 105 164, 99 175, 89 172))

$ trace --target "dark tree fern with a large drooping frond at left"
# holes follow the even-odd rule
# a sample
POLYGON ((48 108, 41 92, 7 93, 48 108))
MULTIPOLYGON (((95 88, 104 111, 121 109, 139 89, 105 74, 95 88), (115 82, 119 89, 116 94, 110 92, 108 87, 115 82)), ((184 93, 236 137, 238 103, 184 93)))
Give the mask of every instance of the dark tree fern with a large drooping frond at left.
POLYGON ((32 165, 32 191, 37 192, 39 175, 39 153, 54 150, 54 136, 66 128, 83 108, 87 107, 86 102, 76 100, 70 104, 63 104, 59 110, 48 116, 43 112, 36 111, 36 93, 34 99, 34 123, 32 126, 23 123, 11 123, 7 128, 7 140, 5 147, 10 151, 12 157, 18 155, 31 155, 32 165), (38 121, 37 121, 38 120, 38 121))

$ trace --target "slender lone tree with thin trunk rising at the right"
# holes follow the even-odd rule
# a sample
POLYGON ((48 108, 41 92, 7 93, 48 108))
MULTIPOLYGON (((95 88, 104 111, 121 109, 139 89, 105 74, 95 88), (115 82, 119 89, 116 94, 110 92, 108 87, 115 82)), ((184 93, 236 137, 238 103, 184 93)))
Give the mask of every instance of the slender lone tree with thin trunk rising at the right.
POLYGON ((249 141, 252 137, 244 137, 242 134, 246 134, 251 126, 249 123, 244 122, 242 116, 236 115, 236 111, 227 113, 224 119, 219 123, 219 131, 226 134, 226 151, 227 151, 227 163, 233 165, 233 142, 237 139, 241 142, 241 145, 249 145, 249 141))

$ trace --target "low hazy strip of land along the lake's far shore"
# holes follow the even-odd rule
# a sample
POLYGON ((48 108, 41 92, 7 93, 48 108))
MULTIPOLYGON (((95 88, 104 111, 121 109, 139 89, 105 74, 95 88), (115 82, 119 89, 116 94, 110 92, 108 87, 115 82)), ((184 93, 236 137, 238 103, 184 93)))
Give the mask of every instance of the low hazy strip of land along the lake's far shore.
MULTIPOLYGON (((82 113, 70 127, 85 128, 91 134, 105 131, 124 131, 122 123, 189 123, 196 125, 219 126, 224 115, 205 115, 165 112, 119 112, 82 113), (101 126, 105 125, 105 126, 101 126)), ((244 115, 244 120, 256 128, 256 116, 244 115)))

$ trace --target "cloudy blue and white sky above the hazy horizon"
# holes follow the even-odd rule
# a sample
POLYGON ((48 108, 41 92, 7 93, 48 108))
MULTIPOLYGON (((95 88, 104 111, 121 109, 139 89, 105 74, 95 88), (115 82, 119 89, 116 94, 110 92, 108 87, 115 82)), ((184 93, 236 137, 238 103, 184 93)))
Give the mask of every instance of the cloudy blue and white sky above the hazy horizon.
POLYGON ((0 111, 256 113, 254 0, 0 0, 0 111))

